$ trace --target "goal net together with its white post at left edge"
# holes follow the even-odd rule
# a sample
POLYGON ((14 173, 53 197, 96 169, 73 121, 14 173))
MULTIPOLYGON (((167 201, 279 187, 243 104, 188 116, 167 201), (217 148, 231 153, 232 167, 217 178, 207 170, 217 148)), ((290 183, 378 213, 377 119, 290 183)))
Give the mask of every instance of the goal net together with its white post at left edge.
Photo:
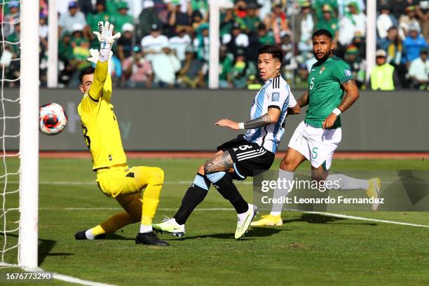
POLYGON ((36 268, 39 1, 0 0, 0 17, 0 267, 36 268))

